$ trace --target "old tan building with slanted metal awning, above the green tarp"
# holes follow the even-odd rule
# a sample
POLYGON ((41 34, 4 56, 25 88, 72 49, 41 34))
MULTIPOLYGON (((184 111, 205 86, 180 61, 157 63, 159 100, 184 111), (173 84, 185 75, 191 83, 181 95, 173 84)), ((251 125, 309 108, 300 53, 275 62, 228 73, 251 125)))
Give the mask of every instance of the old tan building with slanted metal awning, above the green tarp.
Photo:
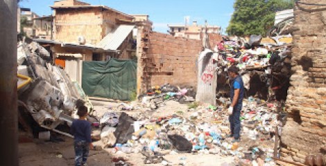
POLYGON ((35 41, 51 51, 55 64, 65 68, 71 80, 81 84, 83 61, 135 57, 134 17, 76 0, 55 1, 51 8, 53 39, 35 41))

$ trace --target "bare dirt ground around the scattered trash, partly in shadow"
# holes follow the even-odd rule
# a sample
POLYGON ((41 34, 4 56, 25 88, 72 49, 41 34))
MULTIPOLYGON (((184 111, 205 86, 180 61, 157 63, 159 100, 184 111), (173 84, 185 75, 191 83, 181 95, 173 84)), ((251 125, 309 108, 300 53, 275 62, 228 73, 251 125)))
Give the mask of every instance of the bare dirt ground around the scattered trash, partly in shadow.
MULTIPOLYGON (((97 116, 101 117, 110 108, 117 107, 115 102, 92 102, 97 116)), ((153 117, 171 116, 177 112, 187 112, 187 104, 178 102, 166 102, 166 105, 156 111, 148 111, 153 117)), ((128 114, 139 113, 139 111, 128 111, 128 114)), ((74 146, 73 138, 60 136, 65 142, 44 142, 35 139, 34 142, 19 143, 19 163, 22 166, 47 166, 47 165, 74 165, 74 146)), ((101 146, 102 142, 94 142, 94 145, 101 146)), ((113 148, 90 151, 88 165, 104 166, 114 165, 112 158, 123 157, 130 165, 145 165, 142 154, 114 153, 113 148)), ((232 156, 219 156, 218 154, 166 154, 164 158, 171 162, 171 165, 223 165, 232 163, 232 156)), ((151 164, 153 165, 153 164, 151 164)), ((151 166, 148 165, 148 166, 151 166)), ((161 163, 156 165, 162 165, 161 163)))

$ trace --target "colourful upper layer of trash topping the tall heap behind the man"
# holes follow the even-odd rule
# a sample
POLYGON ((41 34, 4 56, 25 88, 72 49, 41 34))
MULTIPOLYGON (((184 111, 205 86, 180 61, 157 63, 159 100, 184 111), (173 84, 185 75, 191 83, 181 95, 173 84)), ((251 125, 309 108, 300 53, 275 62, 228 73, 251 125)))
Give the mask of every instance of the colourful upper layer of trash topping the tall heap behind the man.
POLYGON ((218 53, 218 57, 214 59, 222 66, 235 64, 246 70, 268 67, 273 56, 280 55, 284 58, 289 52, 287 44, 261 44, 261 39, 261 35, 251 35, 248 42, 241 37, 225 37, 216 44, 214 52, 218 53))

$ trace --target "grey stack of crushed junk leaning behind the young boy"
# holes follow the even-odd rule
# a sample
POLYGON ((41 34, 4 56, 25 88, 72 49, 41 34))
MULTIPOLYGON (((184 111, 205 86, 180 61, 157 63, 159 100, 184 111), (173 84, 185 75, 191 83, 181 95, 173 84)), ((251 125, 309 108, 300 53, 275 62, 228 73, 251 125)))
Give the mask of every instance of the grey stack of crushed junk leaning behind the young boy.
MULTIPOLYGON (((71 136, 57 127, 69 126, 78 117, 76 104, 85 104, 92 111, 92 104, 79 84, 71 82, 62 68, 53 65, 49 51, 31 39, 18 43, 17 64, 20 114, 28 112, 40 127, 71 136)), ((28 124, 27 119, 21 124, 28 124)))

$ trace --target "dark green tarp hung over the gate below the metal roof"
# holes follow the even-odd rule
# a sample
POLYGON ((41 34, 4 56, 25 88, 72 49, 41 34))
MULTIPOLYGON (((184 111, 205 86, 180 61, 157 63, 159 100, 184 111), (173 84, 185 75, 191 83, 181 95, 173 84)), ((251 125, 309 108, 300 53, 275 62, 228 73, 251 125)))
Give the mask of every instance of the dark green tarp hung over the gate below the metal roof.
POLYGON ((83 62, 83 90, 93 97, 129 100, 136 91, 136 74, 137 62, 133 60, 83 62))

